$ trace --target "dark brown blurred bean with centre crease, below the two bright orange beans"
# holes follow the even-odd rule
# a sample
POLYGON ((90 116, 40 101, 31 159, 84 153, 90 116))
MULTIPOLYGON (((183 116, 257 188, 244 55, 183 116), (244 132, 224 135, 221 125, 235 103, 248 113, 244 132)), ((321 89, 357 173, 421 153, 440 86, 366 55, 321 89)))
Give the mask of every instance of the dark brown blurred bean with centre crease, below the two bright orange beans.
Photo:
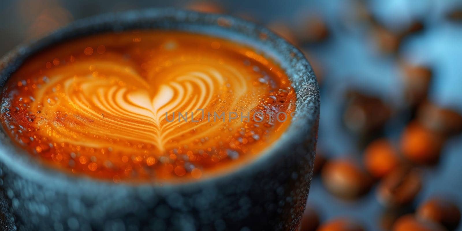
POLYGON ((385 207, 409 204, 419 194, 422 179, 415 169, 401 167, 385 176, 377 187, 377 200, 385 207))

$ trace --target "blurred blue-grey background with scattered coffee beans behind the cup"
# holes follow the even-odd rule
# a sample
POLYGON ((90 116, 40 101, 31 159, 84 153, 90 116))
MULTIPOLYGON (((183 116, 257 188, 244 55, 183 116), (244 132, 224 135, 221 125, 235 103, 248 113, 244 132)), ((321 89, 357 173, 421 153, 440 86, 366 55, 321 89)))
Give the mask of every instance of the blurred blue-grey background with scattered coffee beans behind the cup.
POLYGON ((462 230, 458 0, 2 0, 0 54, 79 18, 173 6, 263 24, 321 86, 302 230, 462 230))

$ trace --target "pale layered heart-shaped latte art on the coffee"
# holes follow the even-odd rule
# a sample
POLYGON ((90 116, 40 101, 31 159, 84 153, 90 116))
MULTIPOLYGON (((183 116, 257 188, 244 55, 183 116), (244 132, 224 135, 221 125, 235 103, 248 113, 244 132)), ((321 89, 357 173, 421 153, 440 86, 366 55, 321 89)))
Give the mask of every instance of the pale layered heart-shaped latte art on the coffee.
POLYGON ((149 73, 147 79, 131 67, 111 62, 80 62, 62 68, 36 93, 34 102, 45 102, 46 111, 45 119, 36 123, 55 141, 76 146, 133 150, 128 144, 142 144, 162 153, 169 144, 188 144, 222 128, 219 122, 209 122, 207 112, 238 110, 246 115, 260 103, 244 99, 258 96, 258 88, 249 87, 244 73, 225 64, 180 64, 149 73), (91 72, 62 74, 75 73, 62 68, 88 67, 91 72), (178 113, 187 113, 187 122, 179 120, 178 113))

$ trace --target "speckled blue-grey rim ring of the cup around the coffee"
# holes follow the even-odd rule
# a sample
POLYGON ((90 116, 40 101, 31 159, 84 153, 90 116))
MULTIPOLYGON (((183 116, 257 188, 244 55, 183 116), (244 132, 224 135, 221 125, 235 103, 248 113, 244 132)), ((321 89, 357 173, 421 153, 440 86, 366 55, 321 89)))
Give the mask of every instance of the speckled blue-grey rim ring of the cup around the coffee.
MULTIPOLYGON (((12 144, 9 136, 0 133, 0 161, 18 175, 48 185, 57 190, 72 189, 77 193, 92 193, 97 190, 118 190, 121 188, 155 187, 156 190, 175 188, 201 188, 202 184, 225 180, 228 177, 244 176, 249 171, 265 168, 274 155, 284 155, 303 142, 319 119, 319 88, 314 72, 304 55, 292 44, 276 36, 267 28, 228 15, 184 11, 173 8, 135 10, 109 13, 77 20, 55 32, 13 49, 0 60, 0 84, 14 73, 31 55, 69 39, 109 31, 123 30, 184 30, 224 37, 251 46, 271 57, 286 71, 297 94, 297 120, 280 139, 268 147, 259 157, 229 173, 192 182, 141 182, 137 184, 114 183, 88 176, 73 176, 37 163, 36 158, 24 153, 12 144)), ((3 90, 2 90, 3 91, 3 90)))

